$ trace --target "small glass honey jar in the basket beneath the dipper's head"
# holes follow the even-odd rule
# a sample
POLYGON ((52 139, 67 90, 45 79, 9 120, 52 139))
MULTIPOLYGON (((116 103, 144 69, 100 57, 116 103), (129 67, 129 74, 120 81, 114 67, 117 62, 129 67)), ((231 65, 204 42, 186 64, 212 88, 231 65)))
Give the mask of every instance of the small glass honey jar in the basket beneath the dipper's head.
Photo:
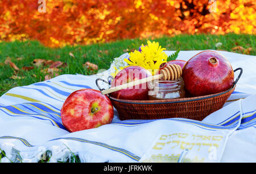
POLYGON ((184 81, 155 80, 149 84, 148 98, 150 100, 179 99, 185 97, 184 81))

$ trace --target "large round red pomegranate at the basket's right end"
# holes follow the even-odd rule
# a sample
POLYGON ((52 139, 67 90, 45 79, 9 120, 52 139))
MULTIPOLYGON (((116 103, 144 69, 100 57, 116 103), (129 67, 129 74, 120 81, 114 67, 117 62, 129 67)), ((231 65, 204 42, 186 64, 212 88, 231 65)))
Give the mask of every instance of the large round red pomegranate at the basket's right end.
POLYGON ((192 96, 216 94, 234 83, 234 71, 228 59, 205 50, 193 56, 183 67, 185 90, 192 96))

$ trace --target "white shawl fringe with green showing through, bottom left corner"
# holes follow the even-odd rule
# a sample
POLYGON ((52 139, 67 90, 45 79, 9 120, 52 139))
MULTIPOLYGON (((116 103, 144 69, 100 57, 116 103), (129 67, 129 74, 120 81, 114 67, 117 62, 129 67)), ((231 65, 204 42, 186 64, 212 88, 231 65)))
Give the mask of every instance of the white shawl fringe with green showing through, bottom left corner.
POLYGON ((20 152, 19 150, 16 150, 13 143, 5 142, 0 145, 0 148, 5 154, 4 156, 2 153, 2 158, 0 159, 2 163, 109 162, 109 159, 101 158, 95 154, 90 154, 90 152, 73 152, 67 146, 51 146, 42 151, 38 151, 38 149, 36 149, 29 152, 20 152))

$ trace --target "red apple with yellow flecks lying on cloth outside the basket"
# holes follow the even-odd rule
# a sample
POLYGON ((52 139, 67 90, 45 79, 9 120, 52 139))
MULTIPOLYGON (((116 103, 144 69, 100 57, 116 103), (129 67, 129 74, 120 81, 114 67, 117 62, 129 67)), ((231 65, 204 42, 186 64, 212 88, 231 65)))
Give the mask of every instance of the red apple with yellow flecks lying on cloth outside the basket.
POLYGON ((61 120, 70 132, 109 124, 114 117, 111 101, 100 91, 82 89, 72 92, 60 111, 61 120))

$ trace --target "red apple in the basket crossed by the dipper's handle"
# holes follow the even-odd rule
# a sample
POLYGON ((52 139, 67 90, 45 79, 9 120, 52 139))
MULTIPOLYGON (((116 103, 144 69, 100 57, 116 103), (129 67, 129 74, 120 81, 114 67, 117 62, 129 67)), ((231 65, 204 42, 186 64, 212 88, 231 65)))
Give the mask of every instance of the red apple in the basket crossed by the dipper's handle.
MULTIPOLYGON (((135 80, 150 76, 150 71, 141 66, 128 66, 117 73, 111 83, 111 87, 119 86, 121 84, 133 82, 135 80)), ((147 83, 139 84, 127 89, 112 92, 110 93, 110 96, 123 100, 148 100, 148 86, 147 83)))

